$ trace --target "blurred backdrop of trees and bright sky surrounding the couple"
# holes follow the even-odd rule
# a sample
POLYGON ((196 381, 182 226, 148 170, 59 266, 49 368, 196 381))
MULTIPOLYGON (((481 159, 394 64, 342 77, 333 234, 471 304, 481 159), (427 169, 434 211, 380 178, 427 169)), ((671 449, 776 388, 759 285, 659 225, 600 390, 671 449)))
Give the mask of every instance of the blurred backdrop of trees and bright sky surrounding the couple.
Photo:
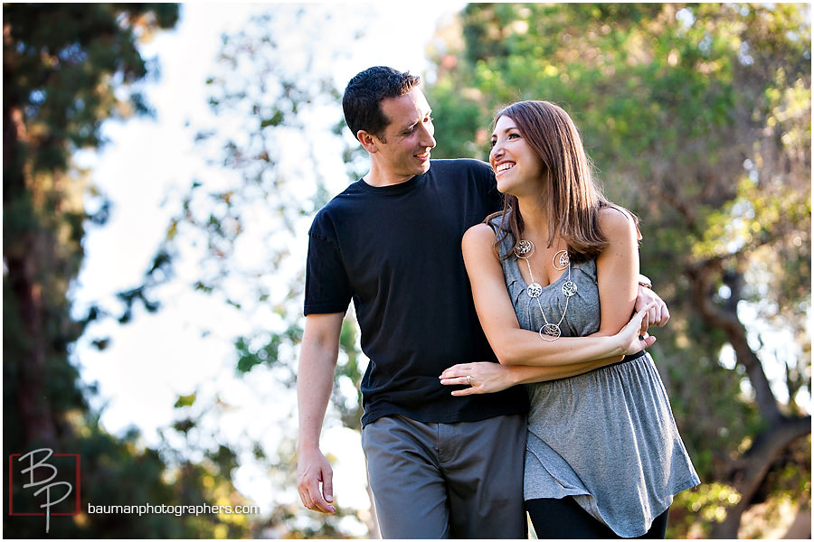
POLYGON ((299 504, 294 387, 308 226, 366 171, 341 93, 384 64, 424 80, 433 157, 486 159, 498 107, 547 99, 639 214, 703 482, 667 536, 811 537, 808 4, 4 4, 3 39, 4 453, 81 458, 49 536, 378 535, 352 311, 336 516, 299 504))

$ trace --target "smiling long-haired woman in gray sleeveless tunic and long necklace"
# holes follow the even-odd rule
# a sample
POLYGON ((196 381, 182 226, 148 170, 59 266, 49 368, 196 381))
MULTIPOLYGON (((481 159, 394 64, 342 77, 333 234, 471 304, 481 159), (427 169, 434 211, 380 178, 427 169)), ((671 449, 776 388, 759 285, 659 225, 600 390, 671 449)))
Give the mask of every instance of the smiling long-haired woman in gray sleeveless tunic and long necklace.
POLYGON ((489 162, 506 207, 469 229, 462 248, 501 365, 457 365, 441 382, 469 383, 453 395, 536 382, 528 387, 525 501, 538 537, 664 537, 673 496, 700 481, 641 350, 652 338, 630 337, 640 316, 628 323, 639 274, 636 219, 603 199, 576 126, 551 103, 502 110, 489 162), (552 359, 528 355, 525 330, 547 341, 552 359), (637 350, 552 379, 554 359, 637 350))

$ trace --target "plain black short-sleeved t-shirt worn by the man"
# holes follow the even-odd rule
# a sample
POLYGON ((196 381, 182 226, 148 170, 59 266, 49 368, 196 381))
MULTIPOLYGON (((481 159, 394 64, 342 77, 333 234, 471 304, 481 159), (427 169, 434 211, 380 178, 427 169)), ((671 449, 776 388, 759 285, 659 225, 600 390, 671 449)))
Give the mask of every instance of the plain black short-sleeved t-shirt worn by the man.
POLYGON ((309 231, 305 314, 345 313, 353 299, 370 364, 364 425, 381 416, 453 423, 525 412, 521 387, 452 397, 439 375, 494 361, 460 251, 469 227, 500 206, 487 164, 433 160, 427 173, 373 187, 359 180, 309 231))

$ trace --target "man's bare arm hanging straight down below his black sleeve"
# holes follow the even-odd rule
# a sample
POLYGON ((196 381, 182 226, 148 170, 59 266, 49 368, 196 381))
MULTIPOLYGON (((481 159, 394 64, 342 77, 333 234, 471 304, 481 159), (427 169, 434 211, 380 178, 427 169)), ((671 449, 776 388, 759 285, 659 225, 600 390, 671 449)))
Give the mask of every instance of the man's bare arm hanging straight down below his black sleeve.
POLYGON ((309 314, 306 317, 297 375, 299 498, 306 508, 327 514, 336 512, 332 504, 333 471, 319 450, 319 434, 334 387, 343 318, 343 313, 309 314))

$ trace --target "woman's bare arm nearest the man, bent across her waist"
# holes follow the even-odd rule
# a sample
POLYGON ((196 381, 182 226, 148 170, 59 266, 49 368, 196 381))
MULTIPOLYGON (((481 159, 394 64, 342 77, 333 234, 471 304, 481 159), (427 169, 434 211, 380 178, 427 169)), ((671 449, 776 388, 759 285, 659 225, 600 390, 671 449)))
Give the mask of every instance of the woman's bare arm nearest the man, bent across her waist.
MULTIPOLYGON (((462 249, 478 319, 501 364, 551 367, 609 358, 620 360, 620 356, 648 346, 646 341, 639 341, 638 336, 635 341, 623 343, 623 338, 612 333, 543 341, 537 332, 522 329, 506 291, 506 280, 493 249, 494 243, 495 232, 486 224, 478 224, 464 235, 462 249)), ((632 312, 635 288, 633 292, 628 316, 632 312)), ((603 364, 612 361, 605 360, 603 364)))

